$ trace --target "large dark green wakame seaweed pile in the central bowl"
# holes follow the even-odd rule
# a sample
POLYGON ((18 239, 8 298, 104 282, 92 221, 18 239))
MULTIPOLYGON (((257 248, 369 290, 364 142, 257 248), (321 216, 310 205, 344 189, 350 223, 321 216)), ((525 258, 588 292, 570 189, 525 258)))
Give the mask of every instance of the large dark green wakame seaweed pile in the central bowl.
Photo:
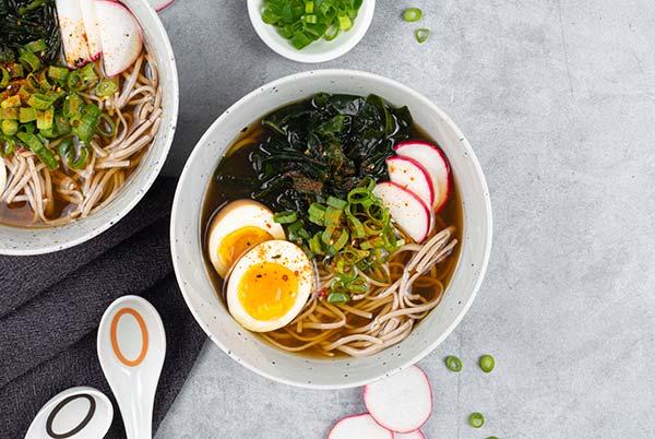
POLYGON ((407 107, 379 96, 321 93, 264 117, 263 140, 248 156, 252 173, 236 175, 222 161, 216 178, 233 193, 303 217, 312 202, 344 199, 364 177, 388 179, 385 159, 410 138, 412 123, 407 107))

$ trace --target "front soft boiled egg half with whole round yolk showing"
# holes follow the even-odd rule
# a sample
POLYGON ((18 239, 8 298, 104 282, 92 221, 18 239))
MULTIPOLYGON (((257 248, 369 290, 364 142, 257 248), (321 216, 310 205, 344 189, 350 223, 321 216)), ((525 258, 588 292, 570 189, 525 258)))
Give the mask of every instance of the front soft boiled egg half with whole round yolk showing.
POLYGON ((227 283, 227 306, 243 328, 275 331, 300 313, 313 284, 313 265, 302 249, 285 240, 269 240, 236 263, 227 283))

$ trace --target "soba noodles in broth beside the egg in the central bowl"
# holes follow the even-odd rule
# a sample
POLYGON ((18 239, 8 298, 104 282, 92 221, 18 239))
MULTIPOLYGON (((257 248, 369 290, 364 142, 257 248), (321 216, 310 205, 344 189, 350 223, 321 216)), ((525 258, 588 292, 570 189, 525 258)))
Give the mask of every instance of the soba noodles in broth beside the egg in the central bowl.
MULTIPOLYGON (((326 356, 334 356, 335 351, 366 356, 402 342, 441 301, 443 278, 436 276, 434 266, 455 249, 454 233, 454 227, 446 227, 424 245, 401 247, 384 266, 386 281, 367 274, 369 290, 354 296, 348 305, 330 304, 317 293, 288 327, 262 336, 287 352, 315 346, 326 356)), ((332 282, 320 269, 319 292, 332 282)))

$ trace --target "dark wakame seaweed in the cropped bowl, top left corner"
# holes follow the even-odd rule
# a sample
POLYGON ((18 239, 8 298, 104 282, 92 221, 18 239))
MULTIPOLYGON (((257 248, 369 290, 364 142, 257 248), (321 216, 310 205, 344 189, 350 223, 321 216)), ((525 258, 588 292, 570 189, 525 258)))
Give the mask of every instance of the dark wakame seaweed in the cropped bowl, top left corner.
POLYGON ((55 0, 0 0, 0 63, 17 59, 17 49, 44 39, 47 62, 59 57, 61 37, 55 0))

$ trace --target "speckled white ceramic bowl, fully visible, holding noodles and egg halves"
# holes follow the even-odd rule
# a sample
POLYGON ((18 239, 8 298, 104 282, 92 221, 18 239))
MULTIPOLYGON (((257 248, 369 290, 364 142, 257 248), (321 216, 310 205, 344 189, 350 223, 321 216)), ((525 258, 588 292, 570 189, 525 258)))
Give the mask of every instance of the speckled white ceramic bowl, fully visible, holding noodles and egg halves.
POLYGON ((371 73, 319 70, 274 81, 250 93, 210 127, 189 157, 170 224, 175 271, 191 312, 225 353, 273 380, 321 389, 361 385, 393 373, 437 347, 466 313, 480 286, 491 248, 491 205, 483 170, 460 129, 414 90, 371 73), (462 252, 443 300, 401 344, 366 358, 312 359, 271 347, 241 328, 214 292, 203 262, 201 210, 210 179, 226 147, 262 116, 319 92, 374 93, 407 105, 415 121, 443 147, 464 204, 462 252))

